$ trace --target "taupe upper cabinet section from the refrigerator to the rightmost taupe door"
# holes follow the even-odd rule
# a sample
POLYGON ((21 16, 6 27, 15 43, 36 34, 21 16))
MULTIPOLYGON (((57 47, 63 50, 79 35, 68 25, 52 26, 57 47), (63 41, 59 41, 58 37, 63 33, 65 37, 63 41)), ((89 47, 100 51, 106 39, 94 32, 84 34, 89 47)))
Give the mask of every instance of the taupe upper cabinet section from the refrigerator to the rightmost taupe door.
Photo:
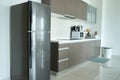
POLYGON ((75 1, 74 0, 51 0, 51 11, 54 13, 74 16, 75 1))

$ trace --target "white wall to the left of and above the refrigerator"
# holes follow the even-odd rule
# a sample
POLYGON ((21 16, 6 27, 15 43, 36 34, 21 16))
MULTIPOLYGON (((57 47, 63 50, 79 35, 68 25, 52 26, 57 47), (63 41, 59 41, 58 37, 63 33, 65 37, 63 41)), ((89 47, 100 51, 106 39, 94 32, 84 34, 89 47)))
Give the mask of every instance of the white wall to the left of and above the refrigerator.
POLYGON ((26 1, 28 0, 0 0, 0 80, 8 80, 10 77, 10 6, 26 1))

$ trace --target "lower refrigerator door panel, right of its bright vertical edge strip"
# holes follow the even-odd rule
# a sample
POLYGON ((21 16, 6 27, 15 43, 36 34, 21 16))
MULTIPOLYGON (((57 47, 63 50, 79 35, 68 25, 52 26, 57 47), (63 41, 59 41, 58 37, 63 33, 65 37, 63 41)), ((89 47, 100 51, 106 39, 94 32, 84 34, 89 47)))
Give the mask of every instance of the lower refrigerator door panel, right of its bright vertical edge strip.
MULTIPOLYGON (((50 76, 50 34, 36 33, 36 80, 49 80, 50 76)), ((34 66, 34 65, 33 65, 34 66)))

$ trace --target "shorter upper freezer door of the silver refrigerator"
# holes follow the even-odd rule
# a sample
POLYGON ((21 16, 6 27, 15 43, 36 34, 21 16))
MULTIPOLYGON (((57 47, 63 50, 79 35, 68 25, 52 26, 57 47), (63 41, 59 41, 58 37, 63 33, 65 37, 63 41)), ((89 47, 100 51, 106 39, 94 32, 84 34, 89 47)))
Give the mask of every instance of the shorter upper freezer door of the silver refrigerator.
POLYGON ((28 31, 50 31, 50 7, 36 2, 30 3, 30 26, 28 31))

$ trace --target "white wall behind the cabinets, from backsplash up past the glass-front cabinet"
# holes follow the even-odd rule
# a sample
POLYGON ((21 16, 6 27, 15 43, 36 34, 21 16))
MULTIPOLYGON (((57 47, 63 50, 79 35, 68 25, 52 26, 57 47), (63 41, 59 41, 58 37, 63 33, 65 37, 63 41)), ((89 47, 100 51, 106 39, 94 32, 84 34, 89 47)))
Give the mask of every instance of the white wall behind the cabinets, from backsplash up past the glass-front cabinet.
POLYGON ((82 20, 65 20, 52 16, 51 19, 51 38, 69 38, 70 27, 74 25, 83 25, 85 28, 90 28, 91 33, 98 31, 101 34, 101 15, 102 15, 102 0, 83 0, 97 8, 97 24, 89 24, 82 20))

